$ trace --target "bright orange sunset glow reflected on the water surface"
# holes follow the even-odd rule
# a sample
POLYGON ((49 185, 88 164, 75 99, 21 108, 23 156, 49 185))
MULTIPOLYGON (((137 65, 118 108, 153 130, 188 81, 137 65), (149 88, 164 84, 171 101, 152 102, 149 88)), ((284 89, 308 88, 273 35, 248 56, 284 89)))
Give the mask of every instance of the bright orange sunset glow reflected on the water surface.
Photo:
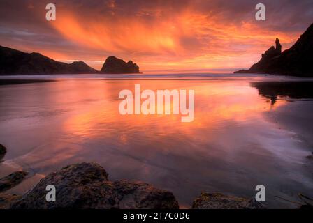
MULTIPOLYGON (((88 109, 82 110, 80 114, 75 114, 66 120, 64 129, 68 134, 77 134, 80 137, 96 137, 103 133, 114 134, 110 128, 117 128, 119 132, 125 132, 120 138, 121 143, 127 141, 130 134, 126 134, 127 128, 141 129, 143 126, 147 129, 145 137, 153 138, 166 134, 180 132, 180 134, 196 135, 196 132, 208 128, 216 128, 220 123, 232 121, 234 123, 245 123, 255 118, 261 118, 262 112, 276 109, 285 105, 284 100, 278 100, 275 106, 270 102, 259 97, 256 89, 242 85, 240 82, 205 82, 198 81, 184 82, 173 80, 161 81, 112 81, 110 86, 105 83, 102 87, 110 87, 110 92, 105 91, 101 102, 95 102, 88 109), (121 115, 118 107, 118 94, 122 89, 134 91, 133 84, 142 84, 141 91, 144 89, 194 89, 195 111, 194 121, 190 123, 181 122, 181 114, 174 115, 173 110, 170 115, 121 115), (235 87, 234 87, 235 86, 235 87), (110 102, 105 102, 109 100, 110 102), (85 111, 85 112, 84 112, 85 111), (99 123, 103 123, 103 128, 96 128, 99 123), (108 128, 108 129, 107 129, 108 128), (149 130, 150 129, 150 130, 149 130), (170 130, 170 132, 168 132, 170 130), (103 131, 103 132, 101 132, 103 131), (150 133, 153 135, 150 135, 150 133)), ((82 90, 85 93, 85 90, 82 90)), ((80 97, 80 96, 79 96, 80 97)), ((142 100, 143 102, 143 100, 142 100)), ((173 109, 173 100, 171 101, 173 109)), ((158 107, 159 105, 156 105, 158 107)), ((209 136, 208 136, 209 137, 209 136)))

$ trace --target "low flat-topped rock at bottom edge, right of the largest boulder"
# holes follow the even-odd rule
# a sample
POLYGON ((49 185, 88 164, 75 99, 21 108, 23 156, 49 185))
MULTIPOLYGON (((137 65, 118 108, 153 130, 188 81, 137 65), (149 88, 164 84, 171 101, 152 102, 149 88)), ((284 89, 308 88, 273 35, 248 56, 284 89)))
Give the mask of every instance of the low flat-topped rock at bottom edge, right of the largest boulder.
POLYGON ((201 193, 192 203, 193 209, 261 209, 263 205, 254 199, 233 197, 220 193, 201 193))

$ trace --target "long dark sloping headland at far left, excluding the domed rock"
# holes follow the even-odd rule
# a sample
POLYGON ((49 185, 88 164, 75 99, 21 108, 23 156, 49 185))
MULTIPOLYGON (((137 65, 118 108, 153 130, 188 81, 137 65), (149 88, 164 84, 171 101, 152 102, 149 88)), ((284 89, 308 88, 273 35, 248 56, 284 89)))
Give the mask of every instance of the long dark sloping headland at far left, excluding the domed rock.
POLYGON ((27 54, 0 46, 0 75, 45 75, 97 73, 86 63, 62 63, 39 53, 27 54))

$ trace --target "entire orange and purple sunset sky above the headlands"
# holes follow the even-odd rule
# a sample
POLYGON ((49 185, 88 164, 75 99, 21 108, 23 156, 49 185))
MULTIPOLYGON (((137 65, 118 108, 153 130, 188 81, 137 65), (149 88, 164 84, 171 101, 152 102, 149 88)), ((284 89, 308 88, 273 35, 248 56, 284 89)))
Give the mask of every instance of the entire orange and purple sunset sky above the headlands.
POLYGON ((279 38, 283 49, 313 22, 313 1, 0 1, 0 45, 101 69, 106 57, 142 72, 230 72, 248 68, 279 38), (55 3, 57 20, 45 20, 55 3), (256 21, 256 3, 266 21, 256 21))

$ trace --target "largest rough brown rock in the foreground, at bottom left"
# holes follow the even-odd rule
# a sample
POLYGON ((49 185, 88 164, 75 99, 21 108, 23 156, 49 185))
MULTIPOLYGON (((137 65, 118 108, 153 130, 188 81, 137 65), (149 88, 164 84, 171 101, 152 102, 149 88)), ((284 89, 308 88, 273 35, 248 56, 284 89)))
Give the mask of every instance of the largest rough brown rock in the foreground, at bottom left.
POLYGON ((111 182, 99 164, 73 164, 43 178, 11 208, 178 208, 171 192, 147 183, 111 182), (57 190, 57 202, 45 200, 47 185, 57 190))

